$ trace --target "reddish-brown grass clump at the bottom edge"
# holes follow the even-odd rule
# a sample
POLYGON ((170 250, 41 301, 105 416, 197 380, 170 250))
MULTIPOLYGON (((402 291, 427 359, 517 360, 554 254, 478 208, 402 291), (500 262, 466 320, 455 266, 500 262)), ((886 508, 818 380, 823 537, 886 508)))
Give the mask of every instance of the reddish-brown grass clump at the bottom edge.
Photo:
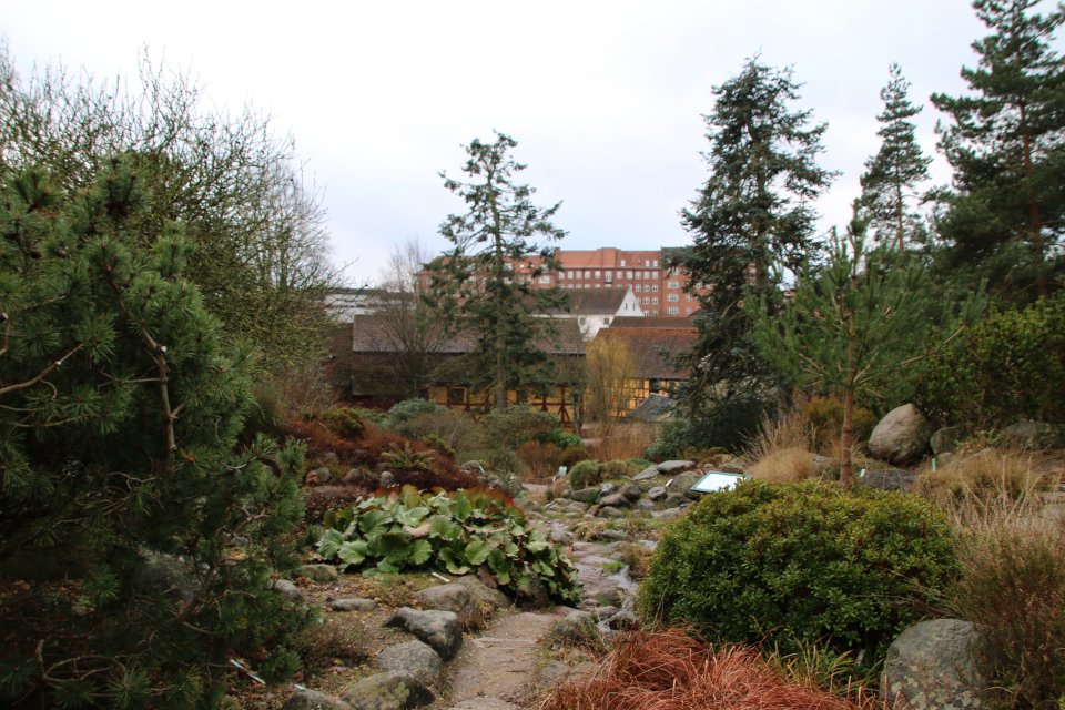
POLYGON ((717 650, 683 629, 632 631, 589 676, 559 686, 539 710, 868 710, 788 682, 742 646, 717 650))

